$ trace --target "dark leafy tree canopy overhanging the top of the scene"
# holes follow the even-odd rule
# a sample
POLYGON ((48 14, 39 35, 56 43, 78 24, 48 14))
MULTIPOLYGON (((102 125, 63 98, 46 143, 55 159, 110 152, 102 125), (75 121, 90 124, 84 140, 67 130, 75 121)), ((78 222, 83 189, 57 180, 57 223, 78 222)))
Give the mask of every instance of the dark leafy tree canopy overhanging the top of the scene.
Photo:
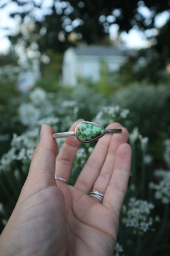
MULTIPOLYGON (((37 40, 40 51, 46 48, 63 51, 79 40, 88 44, 101 42, 114 24, 120 31, 126 32, 134 26, 141 30, 153 28, 156 14, 170 9, 169 0, 131 0, 130 3, 126 0, 53 0, 52 6, 46 7, 48 12, 44 8, 46 1, 41 1, 39 5, 31 0, 11 2, 18 5, 23 20, 26 16, 35 19, 35 32, 40 35, 37 40), (37 12, 39 15, 36 15, 37 12), (44 34, 43 29, 46 30, 44 34)), ((15 17, 15 14, 11 16, 15 17)), ((19 36, 10 36, 10 40, 19 36)))

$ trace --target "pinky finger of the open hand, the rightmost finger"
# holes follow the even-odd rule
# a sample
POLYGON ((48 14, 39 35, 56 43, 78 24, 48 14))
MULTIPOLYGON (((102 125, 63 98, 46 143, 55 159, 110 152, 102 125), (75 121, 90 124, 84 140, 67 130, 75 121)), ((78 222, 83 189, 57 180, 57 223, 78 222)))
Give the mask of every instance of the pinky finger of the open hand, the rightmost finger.
POLYGON ((103 204, 119 216, 126 195, 131 168, 131 147, 123 143, 118 147, 114 169, 103 204))

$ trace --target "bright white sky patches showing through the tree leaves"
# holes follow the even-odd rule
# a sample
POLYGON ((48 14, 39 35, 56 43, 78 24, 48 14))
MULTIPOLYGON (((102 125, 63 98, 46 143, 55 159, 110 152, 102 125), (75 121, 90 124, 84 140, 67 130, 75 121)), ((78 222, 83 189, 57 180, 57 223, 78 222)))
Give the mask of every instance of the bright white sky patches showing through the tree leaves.
MULTIPOLYGON (((39 0, 35 0, 38 1, 39 0)), ((10 41, 7 39, 7 35, 9 31, 6 30, 6 27, 10 27, 11 33, 15 33, 18 29, 17 27, 17 20, 14 22, 14 19, 10 18, 9 14, 11 11, 19 11, 18 6, 15 2, 10 3, 8 6, 2 8, 4 3, 10 3, 10 0, 0 0, 0 52, 5 53, 7 52, 8 48, 10 47, 10 41)), ((50 7, 51 0, 44 1, 44 10, 46 13, 50 11, 48 7, 50 7), (48 3, 48 6, 46 5, 48 3)), ((29 6, 27 7, 29 8, 29 6)), ((150 10, 146 6, 140 6, 138 9, 139 13, 141 13, 145 18, 149 19, 152 15, 150 10)), ((41 16, 41 13, 36 12, 35 15, 41 16)), ((169 12, 164 11, 162 14, 159 14, 155 17, 155 26, 160 28, 164 26, 169 18, 169 12)), ((109 34, 112 40, 116 39, 118 31, 117 24, 113 24, 109 28, 109 34)), ((156 30, 147 30, 146 35, 155 34, 156 30)), ((122 42, 124 42, 125 46, 128 48, 145 48, 148 47, 148 41, 146 40, 146 36, 143 32, 137 30, 136 28, 131 29, 128 33, 122 32, 120 36, 122 42)))

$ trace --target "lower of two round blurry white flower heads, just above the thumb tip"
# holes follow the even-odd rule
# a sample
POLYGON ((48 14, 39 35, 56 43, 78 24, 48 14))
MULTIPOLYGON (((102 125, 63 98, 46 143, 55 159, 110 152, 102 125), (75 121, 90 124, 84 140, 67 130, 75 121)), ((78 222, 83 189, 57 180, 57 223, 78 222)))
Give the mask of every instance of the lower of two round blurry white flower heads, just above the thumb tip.
POLYGON ((39 118, 40 110, 32 104, 23 103, 19 106, 19 119, 23 125, 34 126, 39 118))

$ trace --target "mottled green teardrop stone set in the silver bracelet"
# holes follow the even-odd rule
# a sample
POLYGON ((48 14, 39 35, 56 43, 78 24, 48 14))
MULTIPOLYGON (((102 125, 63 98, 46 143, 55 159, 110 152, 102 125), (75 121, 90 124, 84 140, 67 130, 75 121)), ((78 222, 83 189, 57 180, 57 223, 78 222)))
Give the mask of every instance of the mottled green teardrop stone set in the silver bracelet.
POLYGON ((95 141, 103 136, 104 129, 94 123, 81 123, 78 127, 77 135, 82 142, 95 141))

